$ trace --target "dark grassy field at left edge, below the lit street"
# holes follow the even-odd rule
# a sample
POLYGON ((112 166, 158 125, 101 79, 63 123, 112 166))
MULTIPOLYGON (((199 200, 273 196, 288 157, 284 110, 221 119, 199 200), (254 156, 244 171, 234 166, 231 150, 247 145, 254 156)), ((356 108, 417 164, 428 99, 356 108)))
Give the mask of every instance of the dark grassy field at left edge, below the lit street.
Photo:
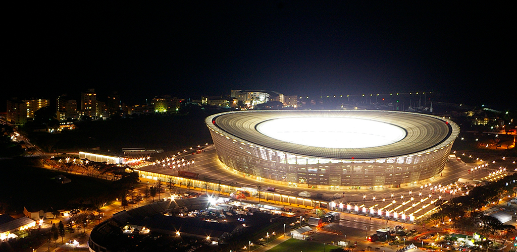
MULTIPOLYGON (((114 182, 39 168, 39 162, 29 158, 0 160, 0 206, 10 213, 20 213, 23 207, 45 210, 87 207, 87 201, 116 198, 120 188, 114 182), (65 175, 72 182, 58 184, 53 179, 65 175)), ((2 210, 0 209, 0 211, 2 210)))

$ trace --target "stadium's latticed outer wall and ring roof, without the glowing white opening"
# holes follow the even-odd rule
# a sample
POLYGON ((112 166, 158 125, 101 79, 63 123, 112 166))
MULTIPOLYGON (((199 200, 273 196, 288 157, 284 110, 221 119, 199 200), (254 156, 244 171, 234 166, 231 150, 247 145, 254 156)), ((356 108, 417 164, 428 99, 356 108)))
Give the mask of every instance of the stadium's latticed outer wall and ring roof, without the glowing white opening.
POLYGON ((205 122, 226 168, 261 181, 337 190, 407 186, 439 176, 460 131, 446 118, 393 111, 226 112, 205 122), (329 148, 281 141, 257 130, 279 118, 327 117, 390 124, 405 135, 382 146, 329 148))

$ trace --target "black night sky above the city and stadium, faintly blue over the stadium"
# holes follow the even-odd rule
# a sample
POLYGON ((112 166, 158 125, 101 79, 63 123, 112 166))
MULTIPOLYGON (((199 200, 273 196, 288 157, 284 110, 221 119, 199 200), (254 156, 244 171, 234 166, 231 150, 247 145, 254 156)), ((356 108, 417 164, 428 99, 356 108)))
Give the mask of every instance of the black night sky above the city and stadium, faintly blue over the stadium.
POLYGON ((451 102, 515 107, 514 5, 185 2, 4 10, 13 18, 4 23, 0 98, 86 88, 117 90, 130 102, 232 88, 303 96, 434 90, 451 102))

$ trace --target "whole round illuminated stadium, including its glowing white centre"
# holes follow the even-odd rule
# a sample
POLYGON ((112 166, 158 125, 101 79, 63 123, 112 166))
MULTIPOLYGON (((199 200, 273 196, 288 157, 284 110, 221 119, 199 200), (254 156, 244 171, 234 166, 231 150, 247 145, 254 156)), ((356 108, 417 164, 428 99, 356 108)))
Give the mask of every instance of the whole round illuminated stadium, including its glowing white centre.
POLYGON ((327 189, 432 180, 460 131, 446 118, 394 111, 242 111, 205 122, 227 169, 327 189))

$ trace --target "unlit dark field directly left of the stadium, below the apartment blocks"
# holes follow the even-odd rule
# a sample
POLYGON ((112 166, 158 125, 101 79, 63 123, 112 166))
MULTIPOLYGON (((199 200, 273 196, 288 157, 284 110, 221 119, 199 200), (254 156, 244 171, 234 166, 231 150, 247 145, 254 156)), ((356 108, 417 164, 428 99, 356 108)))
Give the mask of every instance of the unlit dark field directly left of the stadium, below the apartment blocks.
POLYGON ((211 143, 205 117, 210 113, 188 115, 148 115, 107 121, 80 121, 76 129, 59 134, 35 132, 29 135, 43 149, 81 150, 100 147, 121 152, 124 147, 177 150, 211 143))

